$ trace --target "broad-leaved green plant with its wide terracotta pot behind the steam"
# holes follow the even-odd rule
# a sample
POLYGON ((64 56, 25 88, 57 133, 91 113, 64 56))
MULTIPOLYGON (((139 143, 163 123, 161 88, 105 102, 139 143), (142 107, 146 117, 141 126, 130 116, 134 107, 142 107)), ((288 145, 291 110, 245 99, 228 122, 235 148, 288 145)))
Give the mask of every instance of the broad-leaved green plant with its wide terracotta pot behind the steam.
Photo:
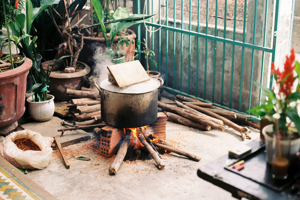
MULTIPOLYGON (((117 34, 126 31, 126 34, 122 34, 120 37, 135 39, 136 34, 128 28, 134 24, 143 22, 142 14, 133 14, 130 16, 128 10, 124 7, 118 7, 110 19, 107 17, 106 13, 110 12, 108 12, 107 8, 105 8, 105 4, 102 5, 98 0, 92 0, 92 3, 99 23, 83 27, 81 30, 98 26, 100 26, 100 29, 97 29, 97 33, 94 34, 95 37, 84 37, 84 51, 80 55, 80 59, 85 59, 87 62, 89 62, 93 57, 94 51, 91 49, 91 46, 95 46, 93 43, 97 43, 103 48, 106 47, 107 49, 116 50, 119 37, 117 34), (98 32, 101 34, 98 34, 98 32), (97 37, 98 35, 101 35, 101 37, 97 37)), ((145 15, 144 18, 148 21, 152 16, 153 15, 145 15)), ((126 52, 125 61, 132 61, 134 55, 134 44, 130 42, 128 46, 124 45, 120 49, 123 49, 126 52)))

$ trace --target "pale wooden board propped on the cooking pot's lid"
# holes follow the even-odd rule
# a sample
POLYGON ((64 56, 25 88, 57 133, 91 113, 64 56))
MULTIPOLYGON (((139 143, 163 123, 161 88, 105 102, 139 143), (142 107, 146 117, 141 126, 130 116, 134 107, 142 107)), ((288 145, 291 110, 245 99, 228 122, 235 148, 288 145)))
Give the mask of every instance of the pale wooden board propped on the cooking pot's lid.
POLYGON ((150 80, 146 70, 138 60, 110 65, 107 68, 110 73, 108 81, 118 85, 119 88, 150 80))

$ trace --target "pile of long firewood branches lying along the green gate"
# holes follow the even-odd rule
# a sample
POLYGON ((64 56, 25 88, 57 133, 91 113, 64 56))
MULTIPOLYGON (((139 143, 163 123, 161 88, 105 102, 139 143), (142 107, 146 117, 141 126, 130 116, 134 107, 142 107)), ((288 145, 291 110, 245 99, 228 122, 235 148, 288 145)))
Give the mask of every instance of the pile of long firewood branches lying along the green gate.
POLYGON ((259 124, 247 119, 249 116, 213 106, 212 103, 204 103, 196 98, 182 95, 177 95, 174 100, 176 105, 159 101, 158 107, 166 111, 169 120, 189 127, 207 131, 211 130, 211 128, 224 131, 226 128, 224 125, 227 125, 237 130, 241 134, 242 139, 251 139, 249 136, 251 131, 235 122, 259 128, 259 124))

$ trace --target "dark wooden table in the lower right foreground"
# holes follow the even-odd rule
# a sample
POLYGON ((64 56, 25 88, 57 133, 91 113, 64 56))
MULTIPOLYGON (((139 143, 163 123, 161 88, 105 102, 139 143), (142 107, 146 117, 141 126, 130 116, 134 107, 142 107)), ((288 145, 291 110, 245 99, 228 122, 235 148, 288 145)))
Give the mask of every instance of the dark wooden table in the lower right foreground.
POLYGON ((266 161, 264 143, 257 139, 247 145, 252 148, 250 154, 238 159, 226 154, 199 168, 197 175, 238 199, 300 199, 300 192, 292 191, 292 186, 300 180, 299 163, 293 165, 287 180, 274 180, 271 166, 266 161), (245 161, 242 170, 228 168, 240 160, 245 161))

